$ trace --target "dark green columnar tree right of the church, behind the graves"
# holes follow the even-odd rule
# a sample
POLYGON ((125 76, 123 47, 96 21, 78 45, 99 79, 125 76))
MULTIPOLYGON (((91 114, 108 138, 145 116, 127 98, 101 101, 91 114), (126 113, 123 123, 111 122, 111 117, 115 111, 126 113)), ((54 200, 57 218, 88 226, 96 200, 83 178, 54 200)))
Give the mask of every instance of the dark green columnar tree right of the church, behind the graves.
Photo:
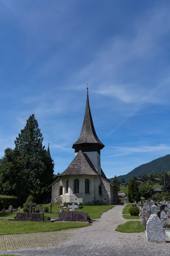
POLYGON ((134 200, 136 200, 137 202, 141 200, 138 184, 133 178, 131 178, 129 181, 128 198, 130 203, 132 203, 134 200))

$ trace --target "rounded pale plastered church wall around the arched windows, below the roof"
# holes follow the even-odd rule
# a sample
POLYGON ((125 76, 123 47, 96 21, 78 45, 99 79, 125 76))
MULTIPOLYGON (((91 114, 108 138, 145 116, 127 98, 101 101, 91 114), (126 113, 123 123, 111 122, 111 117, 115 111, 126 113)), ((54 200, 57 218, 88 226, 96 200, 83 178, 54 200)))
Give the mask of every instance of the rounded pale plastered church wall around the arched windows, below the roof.
POLYGON ((64 202, 76 203, 80 202, 83 205, 94 204, 115 204, 116 195, 114 188, 107 181, 103 180, 100 176, 93 175, 70 175, 59 178, 52 185, 52 198, 53 204, 63 204, 64 202), (74 194, 74 180, 79 179, 79 193, 74 194), (89 194, 85 194, 85 179, 89 180, 89 194), (68 193, 66 193, 66 184, 68 180, 68 193), (99 195, 99 185, 102 186, 102 195, 99 195), (62 195, 59 195, 59 188, 63 186, 62 195))

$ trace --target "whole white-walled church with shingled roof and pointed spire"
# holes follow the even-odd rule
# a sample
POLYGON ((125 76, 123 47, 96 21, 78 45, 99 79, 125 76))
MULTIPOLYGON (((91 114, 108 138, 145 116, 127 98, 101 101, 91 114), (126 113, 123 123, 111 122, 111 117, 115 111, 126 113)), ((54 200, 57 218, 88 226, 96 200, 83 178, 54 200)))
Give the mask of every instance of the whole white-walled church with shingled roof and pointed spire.
POLYGON ((117 187, 107 179, 101 168, 100 151, 104 147, 94 129, 87 88, 82 131, 72 146, 75 157, 68 168, 51 184, 51 203, 110 205, 119 201, 117 187))

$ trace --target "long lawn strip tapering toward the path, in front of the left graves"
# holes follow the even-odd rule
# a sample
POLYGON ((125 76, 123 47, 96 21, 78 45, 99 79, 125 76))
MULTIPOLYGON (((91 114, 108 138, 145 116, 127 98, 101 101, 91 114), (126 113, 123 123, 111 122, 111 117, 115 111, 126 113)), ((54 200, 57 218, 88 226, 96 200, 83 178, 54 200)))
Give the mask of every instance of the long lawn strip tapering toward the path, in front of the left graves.
POLYGON ((66 230, 69 228, 87 227, 89 223, 56 223, 56 222, 23 222, 0 220, 0 235, 28 234, 66 230))

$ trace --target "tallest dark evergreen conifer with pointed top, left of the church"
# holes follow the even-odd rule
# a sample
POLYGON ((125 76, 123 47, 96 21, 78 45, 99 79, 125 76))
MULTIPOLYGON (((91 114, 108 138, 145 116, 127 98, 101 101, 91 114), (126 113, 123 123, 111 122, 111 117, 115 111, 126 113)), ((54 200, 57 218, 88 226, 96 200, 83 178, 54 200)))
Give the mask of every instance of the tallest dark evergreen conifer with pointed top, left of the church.
POLYGON ((52 182, 54 163, 42 145, 43 137, 38 122, 32 114, 15 140, 15 150, 19 151, 26 171, 29 192, 38 198, 48 190, 52 182))

